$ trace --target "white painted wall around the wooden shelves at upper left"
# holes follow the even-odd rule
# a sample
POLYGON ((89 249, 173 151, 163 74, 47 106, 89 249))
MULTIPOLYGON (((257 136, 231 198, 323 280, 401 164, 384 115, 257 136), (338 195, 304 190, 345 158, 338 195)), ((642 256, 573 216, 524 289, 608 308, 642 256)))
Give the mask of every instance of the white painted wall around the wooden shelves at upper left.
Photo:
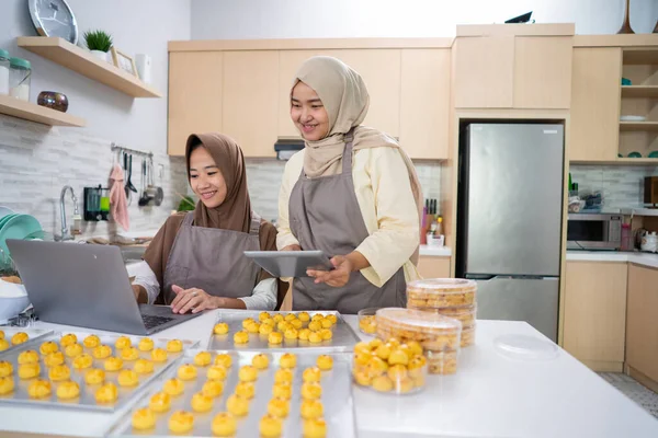
MULTIPOLYGON (((80 28, 111 33, 128 55, 149 54, 152 85, 167 94, 170 39, 190 38, 190 0, 68 0, 80 28)), ((158 152, 167 150, 167 97, 133 99, 16 47, 18 36, 36 35, 26 0, 2 0, 0 48, 32 62, 31 101, 41 91, 64 92, 69 113, 87 119, 86 134, 158 152)))

